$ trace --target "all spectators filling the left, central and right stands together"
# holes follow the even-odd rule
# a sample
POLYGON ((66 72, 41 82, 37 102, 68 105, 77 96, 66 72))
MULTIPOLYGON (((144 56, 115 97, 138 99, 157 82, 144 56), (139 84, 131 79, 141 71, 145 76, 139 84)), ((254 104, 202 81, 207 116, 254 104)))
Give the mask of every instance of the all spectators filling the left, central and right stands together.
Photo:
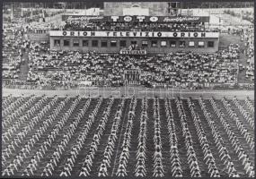
MULTIPOLYGON (((154 23, 151 24, 154 26, 154 23)), ((49 23, 42 25, 46 27, 49 23)), ((26 38, 27 31, 37 29, 38 26, 38 22, 31 25, 19 22, 4 23, 4 79, 19 78, 21 64, 25 61, 23 55, 28 51, 27 81, 36 81, 41 86, 51 85, 44 81, 56 81, 55 84, 58 86, 74 86, 70 82, 66 84, 65 81, 92 81, 93 85, 122 86, 125 84, 124 72, 130 69, 141 72, 137 84, 149 87, 167 85, 198 88, 201 84, 237 81, 238 45, 231 44, 227 49, 218 51, 216 55, 178 52, 162 56, 136 57, 100 55, 93 52, 49 52, 48 47, 30 42, 26 38)), ((149 24, 149 29, 154 29, 150 26, 149 24)), ((246 78, 249 81, 254 79, 252 32, 253 28, 244 29, 241 34, 248 56, 246 78)))

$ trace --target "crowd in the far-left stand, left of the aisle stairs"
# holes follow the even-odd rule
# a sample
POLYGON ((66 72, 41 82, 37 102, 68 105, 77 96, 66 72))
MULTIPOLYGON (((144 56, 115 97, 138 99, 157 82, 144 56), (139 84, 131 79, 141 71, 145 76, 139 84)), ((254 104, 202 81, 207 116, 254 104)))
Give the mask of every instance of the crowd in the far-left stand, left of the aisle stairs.
MULTIPOLYGON (((28 32, 45 29, 48 23, 23 23, 22 20, 4 22, 3 24, 3 78, 18 79, 21 64, 26 61, 26 52, 31 47, 28 32)), ((44 49, 45 47, 41 47, 44 49)))

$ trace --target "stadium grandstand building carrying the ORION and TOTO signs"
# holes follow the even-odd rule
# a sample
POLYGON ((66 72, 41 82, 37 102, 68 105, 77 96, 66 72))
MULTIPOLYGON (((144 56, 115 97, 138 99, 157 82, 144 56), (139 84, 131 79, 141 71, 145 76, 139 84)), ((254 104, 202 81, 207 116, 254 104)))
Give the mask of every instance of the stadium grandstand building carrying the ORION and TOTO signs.
POLYGON ((103 14, 64 14, 62 21, 71 23, 124 23, 134 27, 136 23, 195 24, 200 30, 50 30, 50 48, 55 50, 96 51, 102 53, 151 54, 170 53, 187 49, 199 53, 218 50, 219 33, 208 31, 209 16, 181 14, 179 3, 112 3, 105 2, 103 14), (138 50, 128 50, 136 46, 138 50))

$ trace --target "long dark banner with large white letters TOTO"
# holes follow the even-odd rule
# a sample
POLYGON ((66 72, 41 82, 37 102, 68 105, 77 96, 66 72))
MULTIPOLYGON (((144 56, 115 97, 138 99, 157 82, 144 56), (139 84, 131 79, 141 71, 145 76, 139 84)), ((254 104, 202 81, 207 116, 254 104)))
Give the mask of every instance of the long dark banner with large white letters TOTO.
POLYGON ((209 22, 209 16, 86 16, 62 15, 62 21, 87 22, 209 22))

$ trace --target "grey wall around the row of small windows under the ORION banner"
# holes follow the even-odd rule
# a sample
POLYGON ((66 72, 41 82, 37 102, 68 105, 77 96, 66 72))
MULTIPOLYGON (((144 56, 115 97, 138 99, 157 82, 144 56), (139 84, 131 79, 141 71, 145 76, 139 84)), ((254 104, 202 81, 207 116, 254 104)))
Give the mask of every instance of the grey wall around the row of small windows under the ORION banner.
POLYGON ((95 51, 100 53, 119 53, 120 41, 126 41, 126 47, 130 46, 132 41, 137 41, 138 47, 142 47, 142 42, 147 41, 148 47, 145 47, 148 54, 164 54, 176 51, 192 51, 197 53, 215 53, 218 50, 219 39, 218 38, 92 38, 92 37, 50 37, 50 49, 53 50, 77 50, 82 52, 95 51), (70 46, 64 46, 64 40, 70 40, 70 46), (60 40, 60 45, 55 46, 55 40, 60 40), (74 46, 74 41, 79 41, 79 46, 74 46), (88 46, 83 47, 83 41, 88 40, 88 46), (93 40, 98 41, 98 46, 93 47, 93 40), (107 47, 102 47, 102 41, 107 42, 107 47), (110 41, 116 41, 117 46, 111 47, 110 41), (157 41, 156 47, 152 47, 152 42, 157 41), (166 47, 161 47, 162 41, 166 41, 166 47), (176 47, 171 47, 171 41, 176 42, 176 47), (185 47, 179 47, 181 41, 185 41, 185 47), (195 47, 189 47, 190 41, 194 41, 195 47), (199 47, 199 41, 204 42, 204 47, 199 47), (208 41, 214 42, 214 47, 207 47, 208 41))

